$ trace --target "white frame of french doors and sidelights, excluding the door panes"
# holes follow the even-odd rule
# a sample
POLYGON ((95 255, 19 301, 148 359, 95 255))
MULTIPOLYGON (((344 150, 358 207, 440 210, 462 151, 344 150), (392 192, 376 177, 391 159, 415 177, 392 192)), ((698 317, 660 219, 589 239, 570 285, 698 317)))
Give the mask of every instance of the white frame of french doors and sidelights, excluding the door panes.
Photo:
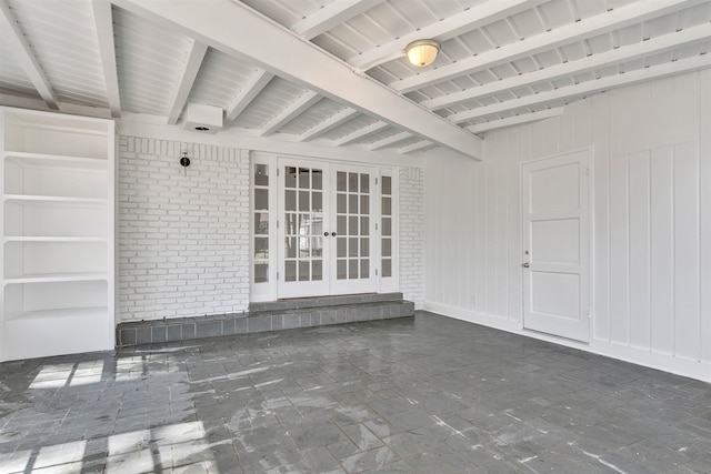
MULTIPOLYGON (((370 164, 349 163, 342 161, 328 161, 318 159, 304 159, 299 157, 271 155, 267 153, 252 153, 250 164, 250 301, 274 301, 284 297, 304 297, 321 294, 353 294, 364 292, 391 292, 398 290, 399 282, 399 222, 398 222, 398 173, 394 168, 377 168, 370 164), (370 231, 372 240, 370 245, 369 274, 374 279, 372 284, 357 280, 339 282, 336 273, 336 258, 330 253, 336 252, 338 236, 324 236, 323 276, 329 286, 319 288, 318 284, 304 285, 303 291, 284 291, 284 252, 283 252, 283 174, 284 164, 303 168, 320 168, 331 170, 332 175, 341 172, 361 172, 370 175, 370 231), (257 178, 257 173, 260 173, 257 178), (383 179, 389 188, 382 193, 383 179), (384 208, 383 208, 384 205, 384 208), (267 209, 260 209, 267 208, 267 209), (382 212, 384 210, 384 212, 382 212), (280 215, 281 214, 281 215, 280 215), (282 228, 280 229, 279 225, 282 228), (385 232, 390 235, 383 235, 385 232), (331 242, 328 242, 328 240, 331 242), (383 244, 384 242, 384 244, 383 244), (330 245, 328 245, 330 244, 330 245), (384 249, 384 255, 383 255, 384 249), (327 254, 327 252, 329 252, 327 254), (383 266, 385 275, 383 275, 383 266)), ((326 183, 324 177, 324 188, 326 183)), ((331 191, 323 190, 323 206, 331 209, 329 215, 323 216, 323 232, 337 231, 336 219, 336 183, 331 191), (332 229, 331 229, 332 228, 332 229)))

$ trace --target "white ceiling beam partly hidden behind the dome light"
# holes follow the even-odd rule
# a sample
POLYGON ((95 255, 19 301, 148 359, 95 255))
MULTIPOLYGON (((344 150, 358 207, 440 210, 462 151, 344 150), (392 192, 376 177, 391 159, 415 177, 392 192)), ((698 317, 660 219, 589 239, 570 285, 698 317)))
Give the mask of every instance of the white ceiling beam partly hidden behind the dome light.
POLYGON ((473 31, 485 24, 502 20, 512 14, 534 8, 549 0, 498 0, 489 1, 475 8, 470 8, 454 17, 438 21, 410 34, 364 51, 348 62, 362 70, 374 68, 383 62, 404 56, 404 48, 415 40, 435 39, 440 42, 450 40, 459 34, 473 31))

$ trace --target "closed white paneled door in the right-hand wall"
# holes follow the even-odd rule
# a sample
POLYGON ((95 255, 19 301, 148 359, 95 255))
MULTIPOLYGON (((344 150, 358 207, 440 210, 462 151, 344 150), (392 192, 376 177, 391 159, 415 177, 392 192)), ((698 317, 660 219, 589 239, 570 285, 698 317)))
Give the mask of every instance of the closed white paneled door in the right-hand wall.
POLYGON ((521 172, 523 326, 589 342, 589 151, 521 172))

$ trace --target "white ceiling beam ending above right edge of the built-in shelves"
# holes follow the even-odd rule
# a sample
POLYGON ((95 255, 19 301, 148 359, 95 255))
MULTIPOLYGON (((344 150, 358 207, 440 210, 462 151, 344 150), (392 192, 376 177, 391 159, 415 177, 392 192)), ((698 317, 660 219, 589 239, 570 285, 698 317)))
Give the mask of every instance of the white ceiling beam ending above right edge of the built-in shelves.
POLYGON ((111 111, 111 117, 119 118, 121 117, 121 94, 119 92, 119 74, 116 65, 111 3, 109 0, 93 0, 92 7, 109 110, 111 111))

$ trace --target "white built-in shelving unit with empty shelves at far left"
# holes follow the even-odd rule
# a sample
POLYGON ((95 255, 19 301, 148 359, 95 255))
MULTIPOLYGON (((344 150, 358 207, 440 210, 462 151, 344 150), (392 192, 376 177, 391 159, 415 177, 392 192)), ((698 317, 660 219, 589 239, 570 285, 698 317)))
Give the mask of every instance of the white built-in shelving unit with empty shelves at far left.
POLYGON ((113 349, 113 122, 0 108, 0 360, 113 349))

